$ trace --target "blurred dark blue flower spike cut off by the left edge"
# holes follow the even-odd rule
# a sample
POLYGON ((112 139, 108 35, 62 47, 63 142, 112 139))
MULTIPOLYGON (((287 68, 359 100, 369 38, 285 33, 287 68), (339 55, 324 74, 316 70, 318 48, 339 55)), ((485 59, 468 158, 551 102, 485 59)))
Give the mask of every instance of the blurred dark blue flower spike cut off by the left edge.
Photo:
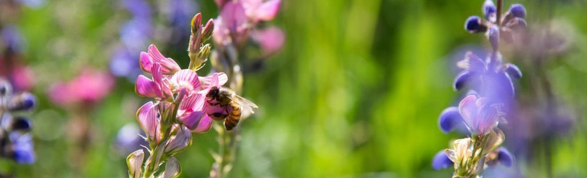
POLYGON ((31 121, 18 114, 32 110, 35 103, 31 93, 14 93, 12 85, 0 78, 0 156, 21 164, 35 162, 31 121))

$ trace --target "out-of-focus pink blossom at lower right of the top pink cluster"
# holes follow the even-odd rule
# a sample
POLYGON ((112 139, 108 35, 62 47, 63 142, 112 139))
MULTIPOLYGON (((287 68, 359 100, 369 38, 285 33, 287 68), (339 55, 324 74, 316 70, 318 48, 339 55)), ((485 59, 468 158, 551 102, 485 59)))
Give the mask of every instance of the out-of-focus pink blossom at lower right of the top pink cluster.
POLYGON ((263 53, 270 55, 281 49, 284 45, 285 34, 278 27, 271 26, 263 30, 255 30, 251 37, 261 45, 263 53))

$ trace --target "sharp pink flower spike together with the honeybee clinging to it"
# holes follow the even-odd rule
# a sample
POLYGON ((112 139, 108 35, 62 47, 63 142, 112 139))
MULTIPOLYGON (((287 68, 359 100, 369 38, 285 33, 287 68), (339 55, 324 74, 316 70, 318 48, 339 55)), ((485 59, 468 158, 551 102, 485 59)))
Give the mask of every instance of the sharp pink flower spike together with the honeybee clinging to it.
POLYGON ((177 177, 181 167, 174 156, 191 145, 192 132, 207 132, 213 120, 225 119, 227 130, 231 130, 234 125, 230 125, 228 118, 236 118, 238 123, 240 109, 248 108, 233 103, 248 100, 234 92, 227 93, 228 89, 222 87, 228 81, 226 74, 198 76, 196 73, 210 54, 210 44, 204 43, 212 36, 213 29, 214 20, 202 25, 200 13, 192 19, 187 69, 164 57, 154 45, 140 53, 139 65, 152 77, 140 75, 135 91, 154 101, 141 106, 136 114, 144 139, 149 143, 145 147, 150 155, 145 159, 143 149, 139 149, 128 156, 131 177, 177 177))

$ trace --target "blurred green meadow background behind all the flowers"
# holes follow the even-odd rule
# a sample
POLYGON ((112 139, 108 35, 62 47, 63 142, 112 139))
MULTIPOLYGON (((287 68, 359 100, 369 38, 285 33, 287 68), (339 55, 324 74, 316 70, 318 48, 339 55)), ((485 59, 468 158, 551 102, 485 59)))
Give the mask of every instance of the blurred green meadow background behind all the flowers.
MULTIPOLYGON (((148 2, 157 6, 166 1, 148 2)), ((203 12, 204 19, 217 16, 212 0, 195 2, 195 12, 203 12)), ((530 26, 552 18, 574 29, 572 48, 542 72, 576 118, 570 133, 552 143, 554 177, 586 177, 587 2, 518 0, 505 1, 504 6, 512 3, 526 6, 530 26)), ((2 172, 18 177, 126 177, 126 155, 117 152, 114 143, 119 129, 136 122, 136 109, 147 101, 134 94, 134 84, 117 78, 113 92, 89 113, 92 137, 82 165, 71 161, 75 145, 68 141, 66 124, 72 114, 53 104, 47 92, 52 83, 73 78, 85 66, 107 70, 112 41, 129 18, 119 4, 47 0, 38 9, 22 7, 13 22, 28 45, 24 61, 35 71, 38 160, 33 165, 2 160, 2 172)), ((450 176, 451 168, 433 170, 431 158, 451 139, 463 136, 443 134, 437 117, 460 95, 451 88, 454 62, 460 60, 453 56, 457 48, 488 47, 483 35, 463 30, 468 16, 482 15, 482 4, 283 0, 279 15, 269 23, 284 30, 284 48, 264 69, 245 74, 242 95, 259 110, 242 122, 230 177, 450 176)), ((153 21, 159 19, 154 16, 153 21)), ((187 66, 187 43, 152 43, 187 66)), ((504 52, 522 72, 534 70, 533 61, 517 56, 515 50, 504 52)), ((518 93, 531 90, 527 76, 516 82, 518 93)), ((181 177, 208 176, 213 162, 209 150, 218 146, 215 135, 194 135, 193 146, 179 155, 181 177)), ((541 149, 536 150, 531 161, 518 160, 527 177, 546 176, 546 160, 541 149)))

